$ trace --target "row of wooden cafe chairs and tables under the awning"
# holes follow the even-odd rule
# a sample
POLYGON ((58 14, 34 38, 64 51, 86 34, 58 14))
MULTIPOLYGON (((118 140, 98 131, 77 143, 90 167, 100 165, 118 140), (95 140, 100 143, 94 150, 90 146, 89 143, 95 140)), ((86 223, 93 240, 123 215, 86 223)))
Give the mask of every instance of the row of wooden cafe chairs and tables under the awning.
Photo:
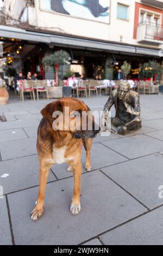
MULTIPOLYGON (((162 93, 163 81, 133 81, 128 80, 131 90, 136 90, 139 94, 159 94, 162 93)), ((54 80, 20 80, 17 81, 16 94, 22 101, 24 99, 52 99, 63 96, 91 97, 98 95, 110 95, 112 90, 118 87, 120 81, 110 80, 59 80, 59 86, 54 80), (69 93, 64 95, 63 89, 69 89, 69 93), (29 97, 30 96, 30 97, 29 97)))

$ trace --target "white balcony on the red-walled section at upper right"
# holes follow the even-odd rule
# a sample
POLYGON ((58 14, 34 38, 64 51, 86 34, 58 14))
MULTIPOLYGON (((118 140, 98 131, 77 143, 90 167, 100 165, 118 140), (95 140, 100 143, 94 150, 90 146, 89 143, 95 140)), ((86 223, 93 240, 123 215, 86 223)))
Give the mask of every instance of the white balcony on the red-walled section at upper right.
POLYGON ((137 41, 141 44, 159 45, 163 42, 163 27, 143 22, 137 27, 137 41))

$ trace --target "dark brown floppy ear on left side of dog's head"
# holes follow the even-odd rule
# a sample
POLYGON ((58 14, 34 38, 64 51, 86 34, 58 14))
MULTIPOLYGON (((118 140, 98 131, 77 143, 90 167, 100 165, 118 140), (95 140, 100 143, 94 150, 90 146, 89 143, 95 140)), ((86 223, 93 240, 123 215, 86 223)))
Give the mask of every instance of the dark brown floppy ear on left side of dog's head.
POLYGON ((53 113, 55 111, 62 112, 62 103, 60 101, 54 101, 52 103, 49 103, 48 105, 46 105, 45 108, 41 110, 43 118, 45 118, 51 125, 55 119, 53 118, 53 113))

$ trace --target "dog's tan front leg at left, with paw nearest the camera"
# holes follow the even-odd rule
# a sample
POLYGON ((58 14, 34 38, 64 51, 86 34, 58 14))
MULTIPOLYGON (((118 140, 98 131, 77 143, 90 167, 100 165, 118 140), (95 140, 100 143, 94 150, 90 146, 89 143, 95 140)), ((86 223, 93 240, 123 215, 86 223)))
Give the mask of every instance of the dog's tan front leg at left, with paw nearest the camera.
POLYGON ((39 194, 37 197, 37 203, 33 211, 31 212, 31 220, 36 221, 38 218, 41 217, 44 209, 44 199, 45 199, 45 190, 46 190, 46 184, 49 174, 49 169, 51 168, 52 164, 49 163, 43 163, 40 164, 40 187, 39 187, 39 194))

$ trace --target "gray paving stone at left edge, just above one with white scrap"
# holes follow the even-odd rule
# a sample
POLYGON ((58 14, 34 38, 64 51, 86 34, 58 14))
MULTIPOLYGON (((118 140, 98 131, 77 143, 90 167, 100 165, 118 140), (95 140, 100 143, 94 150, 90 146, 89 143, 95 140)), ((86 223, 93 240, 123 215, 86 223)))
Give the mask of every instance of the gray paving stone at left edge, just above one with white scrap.
POLYGON ((37 154, 36 138, 19 139, 18 141, 1 142, 2 160, 15 159, 37 154), (10 149, 10 150, 9 150, 10 149))

